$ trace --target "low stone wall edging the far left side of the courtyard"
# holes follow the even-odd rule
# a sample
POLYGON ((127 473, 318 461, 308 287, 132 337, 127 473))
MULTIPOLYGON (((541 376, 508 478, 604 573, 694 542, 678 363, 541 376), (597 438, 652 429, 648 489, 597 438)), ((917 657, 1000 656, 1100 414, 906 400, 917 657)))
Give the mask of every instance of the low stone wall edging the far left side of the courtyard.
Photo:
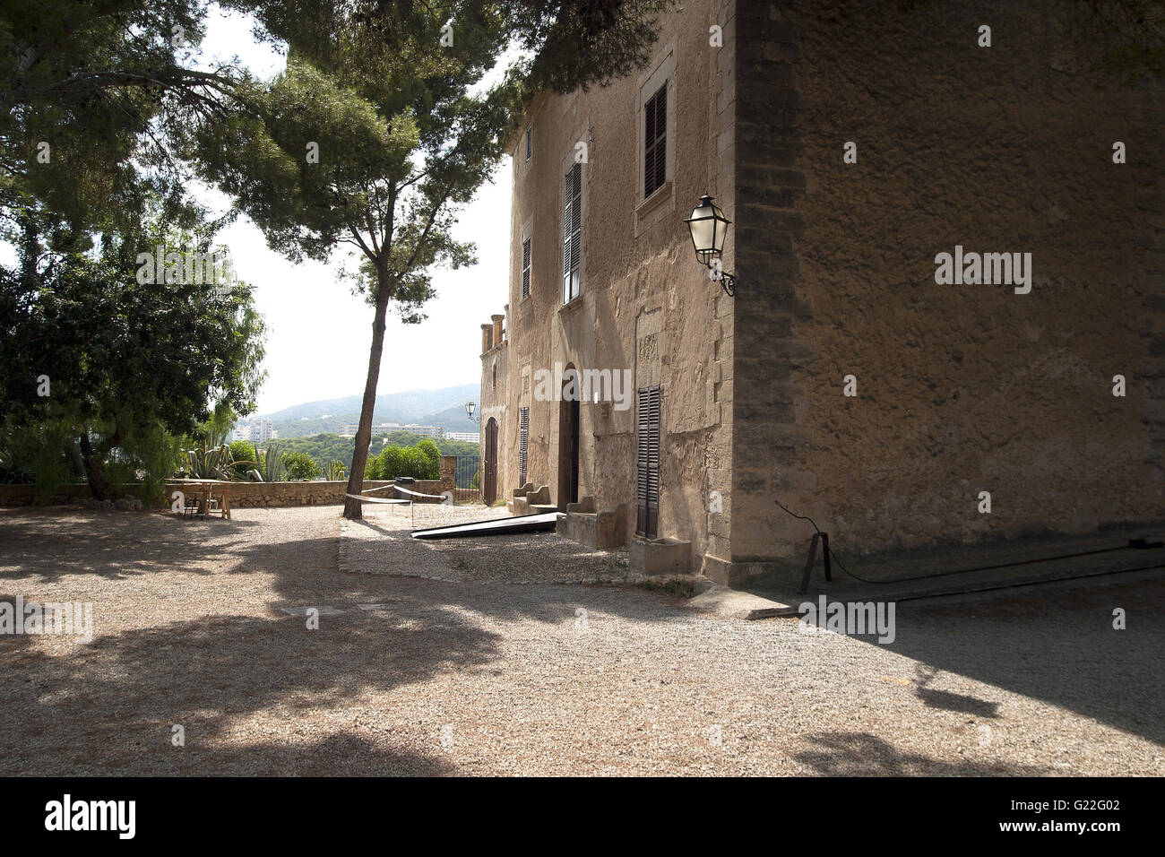
MULTIPOLYGON (((391 482, 365 480, 368 489, 391 485, 391 482)), ((231 506, 233 508, 252 508, 256 506, 330 506, 344 503, 347 482, 234 482, 231 483, 231 506)), ((170 504, 170 492, 181 485, 167 485, 165 499, 157 506, 170 504)), ((445 490, 439 479, 418 479, 411 486, 422 494, 440 494, 445 490)), ((141 497, 140 485, 127 485, 122 493, 141 497)), ((373 497, 391 497, 395 492, 381 491, 373 497)), ((35 485, 0 485, 0 506, 30 506, 36 497, 35 485)), ((92 497, 89 485, 61 485, 52 497, 54 504, 72 504, 92 497)), ((417 503, 440 503, 440 499, 415 498, 417 503)))

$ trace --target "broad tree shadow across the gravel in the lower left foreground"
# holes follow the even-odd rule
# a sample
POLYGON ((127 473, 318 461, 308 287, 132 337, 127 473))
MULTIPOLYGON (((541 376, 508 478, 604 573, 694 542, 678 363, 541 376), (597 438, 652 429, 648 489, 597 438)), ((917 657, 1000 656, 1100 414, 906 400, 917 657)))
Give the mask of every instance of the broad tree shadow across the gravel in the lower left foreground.
MULTIPOLYGON (((320 711, 329 700, 469 669, 492 660, 496 641, 449 610, 428 611, 424 625, 358 610, 322 616, 318 630, 291 616, 205 617, 98 637, 69 658, 5 645, 6 672, 33 681, 15 682, 6 695, 0 768, 8 774, 164 772, 171 724, 185 728, 188 750, 230 747, 236 723, 257 729, 254 715, 285 738, 261 735, 253 743, 254 753, 273 757, 264 765, 277 766, 280 758, 302 752, 295 749, 297 723, 308 740, 334 739, 320 711), (84 747, 84 759, 63 758, 69 747, 84 747)), ((348 707, 348 718, 353 710, 348 707)), ((394 759, 395 750, 363 740, 369 764, 394 759)), ((247 756, 223 752, 224 768, 242 765, 247 756)), ((423 760, 412 763, 425 767, 423 760)))

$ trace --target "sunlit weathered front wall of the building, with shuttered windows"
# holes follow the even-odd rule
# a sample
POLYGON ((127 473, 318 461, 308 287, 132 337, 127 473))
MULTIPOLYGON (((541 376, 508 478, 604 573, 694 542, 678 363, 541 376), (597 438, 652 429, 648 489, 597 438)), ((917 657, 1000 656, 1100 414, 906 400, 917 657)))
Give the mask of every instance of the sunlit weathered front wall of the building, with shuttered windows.
MULTIPOLYGON (((650 66, 606 87, 538 96, 531 105, 534 154, 524 156, 524 126, 514 143, 514 206, 509 290, 509 388, 504 479, 517 475, 518 408, 530 408, 528 480, 551 487, 565 506, 559 459, 564 403, 541 399, 539 371, 609 370, 631 373, 614 401, 580 403, 579 497, 599 511, 630 510, 635 529, 635 393, 662 393, 658 534, 691 541, 691 564, 728 556, 730 518, 730 298, 692 253, 684 218, 702 194, 732 205, 735 29, 733 3, 687 2, 662 19, 650 66), (722 28, 723 47, 709 44, 722 28), (669 168, 665 185, 643 199, 644 87, 669 85, 669 168), (580 296, 563 304, 563 177, 578 143, 582 169, 580 296), (532 275, 522 297, 522 240, 531 238, 532 275), (718 491, 723 505, 709 508, 718 491), (722 511, 719 511, 722 510, 722 511)), ((648 93, 650 94, 650 93, 648 93)), ((728 247, 728 262, 732 246, 728 247)), ((483 379, 485 384, 485 379, 483 379)), ((482 400, 486 400, 486 392, 482 400)))

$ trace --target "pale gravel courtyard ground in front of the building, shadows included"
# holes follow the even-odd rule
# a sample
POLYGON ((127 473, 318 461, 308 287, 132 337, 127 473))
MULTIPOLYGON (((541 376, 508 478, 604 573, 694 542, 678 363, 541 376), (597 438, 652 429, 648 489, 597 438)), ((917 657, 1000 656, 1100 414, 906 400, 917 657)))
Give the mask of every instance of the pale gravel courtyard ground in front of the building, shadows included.
POLYGON ((0 510, 0 600, 94 627, 0 635, 0 774, 1165 774, 1152 576, 903 603, 882 646, 696 612, 552 534, 410 526, 0 510))

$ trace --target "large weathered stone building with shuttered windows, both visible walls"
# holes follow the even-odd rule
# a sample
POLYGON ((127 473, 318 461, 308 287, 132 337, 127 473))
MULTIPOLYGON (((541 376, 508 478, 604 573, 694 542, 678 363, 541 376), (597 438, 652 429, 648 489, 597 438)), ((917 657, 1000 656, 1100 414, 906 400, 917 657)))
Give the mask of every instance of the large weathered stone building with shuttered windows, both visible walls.
POLYGON ((857 553, 1165 518, 1165 92, 1087 5, 909 6, 691 0, 642 72, 534 99, 492 496, 727 581, 804 562, 776 500, 857 553))

